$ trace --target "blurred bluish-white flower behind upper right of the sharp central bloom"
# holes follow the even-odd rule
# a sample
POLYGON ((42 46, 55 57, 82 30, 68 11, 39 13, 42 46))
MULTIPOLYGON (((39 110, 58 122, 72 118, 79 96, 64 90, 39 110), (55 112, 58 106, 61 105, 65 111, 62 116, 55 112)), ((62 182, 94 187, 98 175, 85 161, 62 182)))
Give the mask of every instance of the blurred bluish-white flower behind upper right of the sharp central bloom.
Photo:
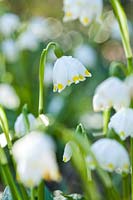
POLYGON ((96 64, 96 52, 89 46, 82 44, 74 50, 74 57, 80 60, 85 66, 94 67, 96 64))

